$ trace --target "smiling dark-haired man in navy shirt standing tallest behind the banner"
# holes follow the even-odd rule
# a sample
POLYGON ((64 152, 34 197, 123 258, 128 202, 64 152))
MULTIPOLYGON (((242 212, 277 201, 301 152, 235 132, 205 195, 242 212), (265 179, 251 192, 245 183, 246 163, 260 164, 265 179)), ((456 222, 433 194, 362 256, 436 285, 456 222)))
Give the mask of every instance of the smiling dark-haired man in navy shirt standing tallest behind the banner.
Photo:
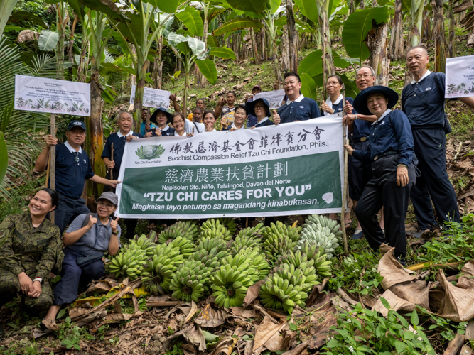
POLYGON ((318 104, 309 97, 300 94, 301 80, 296 72, 287 72, 284 75, 284 89, 288 99, 278 109, 278 114, 273 119, 280 119, 282 124, 294 121, 306 121, 321 117, 318 104))

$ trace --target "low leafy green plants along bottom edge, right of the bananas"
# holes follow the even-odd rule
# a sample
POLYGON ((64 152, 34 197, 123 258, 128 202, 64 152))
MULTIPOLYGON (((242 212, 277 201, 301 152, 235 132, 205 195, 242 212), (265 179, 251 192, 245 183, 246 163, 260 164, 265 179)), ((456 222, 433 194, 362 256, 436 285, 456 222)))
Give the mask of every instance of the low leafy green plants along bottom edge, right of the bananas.
MULTIPOLYGON (((382 303, 389 308, 387 300, 382 303)), ((321 354, 429 354, 436 355, 419 325, 419 317, 414 310, 411 324, 393 310, 383 317, 377 311, 362 309, 358 303, 352 312, 338 315, 338 325, 330 327, 328 342, 321 354), (410 325, 414 331, 410 331, 410 325)))

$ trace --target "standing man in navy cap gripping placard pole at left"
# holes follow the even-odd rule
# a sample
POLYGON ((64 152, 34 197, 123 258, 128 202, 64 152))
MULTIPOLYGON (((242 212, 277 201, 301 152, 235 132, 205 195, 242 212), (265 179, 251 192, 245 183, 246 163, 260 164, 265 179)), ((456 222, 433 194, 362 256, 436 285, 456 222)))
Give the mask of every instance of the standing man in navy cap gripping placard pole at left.
POLYGON ((116 187, 120 181, 101 178, 92 171, 89 155, 82 151, 81 144, 85 141, 85 124, 82 121, 72 120, 66 132, 67 141, 58 144, 53 136, 46 138, 46 146, 36 159, 35 170, 42 172, 48 166, 48 157, 51 146, 56 146, 56 175, 55 190, 58 192, 59 202, 55 209, 54 223, 59 227, 61 234, 66 226, 82 213, 90 213, 81 198, 85 179, 97 184, 116 187))

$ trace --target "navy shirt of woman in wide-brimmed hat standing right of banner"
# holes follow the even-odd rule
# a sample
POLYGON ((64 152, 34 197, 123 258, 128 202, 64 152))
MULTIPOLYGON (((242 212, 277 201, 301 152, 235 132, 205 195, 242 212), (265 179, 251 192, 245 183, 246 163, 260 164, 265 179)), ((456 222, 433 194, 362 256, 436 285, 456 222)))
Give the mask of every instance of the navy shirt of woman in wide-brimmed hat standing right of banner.
POLYGON ((400 111, 387 111, 372 124, 370 129, 370 151, 354 151, 358 160, 373 160, 375 155, 387 151, 399 154, 399 164, 410 165, 413 158, 414 143, 411 127, 406 115, 400 111))

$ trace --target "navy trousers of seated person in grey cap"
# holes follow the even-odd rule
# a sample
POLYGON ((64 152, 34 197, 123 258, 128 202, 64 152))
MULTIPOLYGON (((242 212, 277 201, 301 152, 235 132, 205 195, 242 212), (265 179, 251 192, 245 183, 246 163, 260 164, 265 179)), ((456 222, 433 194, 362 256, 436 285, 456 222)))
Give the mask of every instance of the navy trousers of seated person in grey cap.
POLYGON ((65 248, 61 280, 53 291, 53 305, 70 305, 77 298, 79 285, 87 286, 92 280, 99 280, 105 275, 102 260, 90 263, 82 268, 77 265, 77 251, 65 248))

